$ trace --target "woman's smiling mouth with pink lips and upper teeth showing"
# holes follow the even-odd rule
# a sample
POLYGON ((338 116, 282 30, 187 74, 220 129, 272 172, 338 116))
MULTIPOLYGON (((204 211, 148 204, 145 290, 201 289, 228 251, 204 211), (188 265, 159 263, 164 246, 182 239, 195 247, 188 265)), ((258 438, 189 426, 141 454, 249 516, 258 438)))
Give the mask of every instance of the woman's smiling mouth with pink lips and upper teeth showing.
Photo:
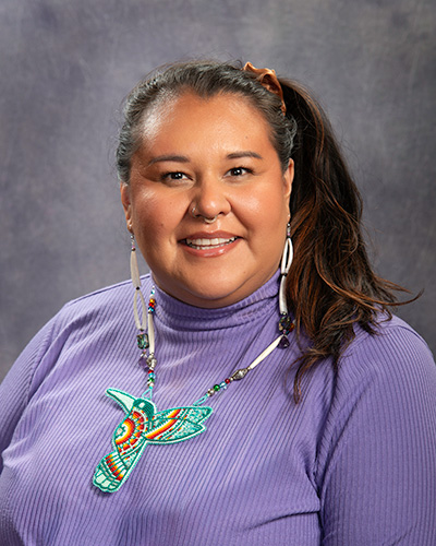
POLYGON ((179 240, 190 254, 213 258, 229 252, 241 237, 229 232, 195 232, 179 240))

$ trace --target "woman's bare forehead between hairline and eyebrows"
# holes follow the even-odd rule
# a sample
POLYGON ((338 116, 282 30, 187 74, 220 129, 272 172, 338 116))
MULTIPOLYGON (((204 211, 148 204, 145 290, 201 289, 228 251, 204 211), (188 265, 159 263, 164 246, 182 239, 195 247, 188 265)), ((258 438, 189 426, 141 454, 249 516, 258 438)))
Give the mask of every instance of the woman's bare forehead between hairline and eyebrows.
POLYGON ((203 140, 257 140, 270 142, 270 129, 263 114, 246 97, 220 93, 201 97, 193 92, 166 96, 145 112, 140 127, 143 145, 177 138, 187 142, 203 140))

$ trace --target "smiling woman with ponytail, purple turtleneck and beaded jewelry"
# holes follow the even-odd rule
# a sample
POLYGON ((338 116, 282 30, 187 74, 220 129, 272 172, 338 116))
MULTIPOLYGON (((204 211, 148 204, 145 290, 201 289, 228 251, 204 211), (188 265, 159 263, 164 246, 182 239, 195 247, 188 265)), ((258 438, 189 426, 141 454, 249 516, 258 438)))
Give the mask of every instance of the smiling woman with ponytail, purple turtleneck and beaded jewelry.
POLYGON ((435 544, 436 368, 310 95, 175 64, 117 157, 133 317, 68 304, 4 380, 2 544, 435 544))

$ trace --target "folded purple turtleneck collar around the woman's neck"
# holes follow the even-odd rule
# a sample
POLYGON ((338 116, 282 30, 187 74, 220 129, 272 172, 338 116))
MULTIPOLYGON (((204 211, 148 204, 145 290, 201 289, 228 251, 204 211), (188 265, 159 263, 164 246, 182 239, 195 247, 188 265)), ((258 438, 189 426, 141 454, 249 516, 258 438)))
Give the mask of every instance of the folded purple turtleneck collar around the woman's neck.
POLYGON ((252 322, 265 313, 279 312, 280 271, 253 294, 218 309, 205 309, 184 304, 156 286, 156 318, 174 330, 216 330, 252 322))

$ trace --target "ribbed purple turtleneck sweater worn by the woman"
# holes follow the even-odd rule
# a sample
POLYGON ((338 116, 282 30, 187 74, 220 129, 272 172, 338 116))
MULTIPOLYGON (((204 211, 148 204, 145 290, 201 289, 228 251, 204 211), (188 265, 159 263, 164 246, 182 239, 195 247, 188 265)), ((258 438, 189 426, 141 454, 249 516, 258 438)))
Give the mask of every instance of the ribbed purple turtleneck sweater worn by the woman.
MULTIPOLYGON (((150 278, 143 281, 144 294, 150 278)), ((0 389, 0 544, 431 546, 436 544, 436 367, 397 318, 356 330, 292 396, 295 334, 206 402, 207 430, 148 444, 117 492, 93 485, 141 396, 132 286, 68 304, 0 389)), ((278 277, 207 310, 156 292, 157 411, 192 405, 278 335, 278 277)))

